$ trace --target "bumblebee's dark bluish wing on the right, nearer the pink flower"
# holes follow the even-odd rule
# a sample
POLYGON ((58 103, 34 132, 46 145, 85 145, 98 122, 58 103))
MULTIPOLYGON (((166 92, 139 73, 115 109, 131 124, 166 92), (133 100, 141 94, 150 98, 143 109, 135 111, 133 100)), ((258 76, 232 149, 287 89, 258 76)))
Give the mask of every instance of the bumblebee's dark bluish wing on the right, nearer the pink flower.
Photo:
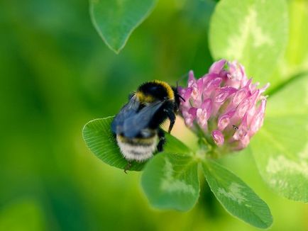
POLYGON ((154 114, 163 105, 163 101, 156 101, 150 103, 150 105, 142 108, 138 113, 130 116, 124 121, 123 134, 126 137, 136 137, 141 130, 148 127, 150 120, 152 120, 154 114))

